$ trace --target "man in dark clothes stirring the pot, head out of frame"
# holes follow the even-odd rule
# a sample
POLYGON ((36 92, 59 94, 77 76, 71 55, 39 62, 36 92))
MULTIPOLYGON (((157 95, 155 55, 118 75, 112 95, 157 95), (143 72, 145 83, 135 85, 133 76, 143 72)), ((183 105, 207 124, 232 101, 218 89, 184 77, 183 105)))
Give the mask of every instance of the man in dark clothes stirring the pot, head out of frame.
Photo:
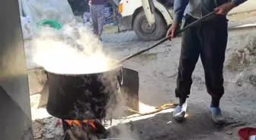
POLYGON ((177 88, 175 95, 179 105, 175 108, 175 120, 184 120, 187 110, 187 98, 190 95, 192 73, 200 56, 206 80, 207 92, 212 101, 209 110, 215 123, 223 123, 220 98, 224 94, 223 63, 228 40, 228 20, 226 14, 246 0, 174 0, 174 23, 167 36, 174 37, 175 30, 181 23, 188 5, 184 26, 216 11, 216 15, 200 25, 193 26, 182 35, 181 54, 178 67, 177 88))

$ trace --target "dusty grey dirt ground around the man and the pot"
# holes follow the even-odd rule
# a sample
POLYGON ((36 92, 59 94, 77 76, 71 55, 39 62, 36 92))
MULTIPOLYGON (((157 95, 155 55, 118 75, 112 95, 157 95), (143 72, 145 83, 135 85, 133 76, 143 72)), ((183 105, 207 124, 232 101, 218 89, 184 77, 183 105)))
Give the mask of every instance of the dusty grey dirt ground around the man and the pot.
MULTIPOLYGON (((154 42, 134 42, 127 45, 106 46, 112 58, 123 58, 154 42)), ((123 63, 139 72, 139 109, 141 112, 155 110, 168 102, 177 103, 174 97, 181 38, 165 42, 151 51, 123 63)), ((225 62, 225 95, 221 107, 226 123, 216 126, 210 119, 207 107, 210 95, 205 88, 203 66, 200 60, 193 74, 193 86, 188 100, 187 119, 178 123, 172 118, 173 109, 143 117, 114 120, 108 129, 113 137, 134 140, 193 140, 238 139, 237 129, 255 126, 256 122, 256 30, 229 31, 229 43, 225 62)), ((43 110, 43 108, 40 108, 43 110)), ((45 110, 43 110, 46 114, 45 110)), ((58 119, 33 110, 34 138, 62 139, 62 128, 56 126, 58 119), (41 116, 41 118, 39 117, 41 116), (56 135, 59 134, 59 135, 56 135)))

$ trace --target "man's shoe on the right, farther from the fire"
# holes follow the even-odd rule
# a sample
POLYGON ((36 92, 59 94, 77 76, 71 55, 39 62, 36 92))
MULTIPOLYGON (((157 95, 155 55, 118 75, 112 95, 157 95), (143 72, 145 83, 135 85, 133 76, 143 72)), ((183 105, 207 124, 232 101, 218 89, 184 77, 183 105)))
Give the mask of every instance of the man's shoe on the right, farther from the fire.
POLYGON ((224 123, 224 117, 222 114, 222 110, 219 107, 211 107, 210 106, 209 110, 211 112, 212 119, 213 119, 214 123, 217 123, 217 124, 224 123))

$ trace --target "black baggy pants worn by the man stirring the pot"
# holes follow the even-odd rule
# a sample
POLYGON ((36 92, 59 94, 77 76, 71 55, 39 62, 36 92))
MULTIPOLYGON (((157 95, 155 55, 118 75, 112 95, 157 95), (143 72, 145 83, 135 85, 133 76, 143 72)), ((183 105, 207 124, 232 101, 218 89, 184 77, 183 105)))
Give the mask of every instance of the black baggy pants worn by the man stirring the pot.
MULTIPOLYGON (((185 19, 184 26, 197 20, 190 15, 187 15, 185 19)), ((185 99, 190 95, 191 76, 200 56, 207 92, 213 100, 220 100, 224 94, 222 70, 228 38, 227 21, 224 16, 216 16, 183 33, 177 88, 175 89, 176 97, 185 99)))

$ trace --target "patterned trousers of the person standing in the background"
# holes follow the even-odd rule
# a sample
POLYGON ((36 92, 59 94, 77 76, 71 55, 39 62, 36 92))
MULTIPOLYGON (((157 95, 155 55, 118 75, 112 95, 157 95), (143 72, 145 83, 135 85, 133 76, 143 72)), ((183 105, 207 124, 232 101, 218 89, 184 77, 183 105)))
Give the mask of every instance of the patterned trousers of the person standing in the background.
POLYGON ((94 34, 101 36, 104 24, 104 5, 91 5, 91 20, 94 26, 94 34))

